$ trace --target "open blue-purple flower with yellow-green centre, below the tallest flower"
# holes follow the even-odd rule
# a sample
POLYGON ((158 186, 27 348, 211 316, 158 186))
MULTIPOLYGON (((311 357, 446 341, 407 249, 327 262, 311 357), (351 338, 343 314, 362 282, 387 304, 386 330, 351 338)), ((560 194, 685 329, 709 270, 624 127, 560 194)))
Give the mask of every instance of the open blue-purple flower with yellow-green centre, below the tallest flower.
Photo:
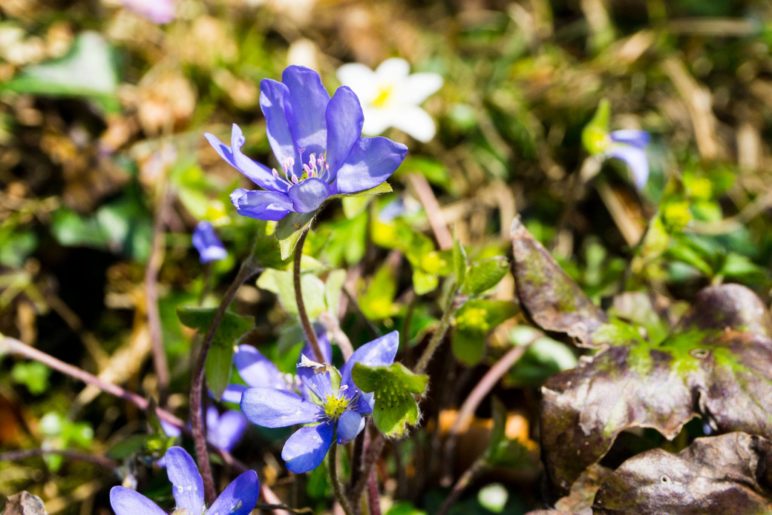
POLYGON ((340 372, 330 365, 315 363, 301 354, 297 365, 303 388, 292 390, 248 388, 241 398, 247 418, 263 427, 303 424, 287 439, 281 456, 290 472, 301 474, 318 467, 334 437, 338 443, 353 439, 364 427, 364 418, 373 411, 372 394, 354 384, 351 370, 355 363, 389 365, 399 346, 396 331, 358 348, 340 372))

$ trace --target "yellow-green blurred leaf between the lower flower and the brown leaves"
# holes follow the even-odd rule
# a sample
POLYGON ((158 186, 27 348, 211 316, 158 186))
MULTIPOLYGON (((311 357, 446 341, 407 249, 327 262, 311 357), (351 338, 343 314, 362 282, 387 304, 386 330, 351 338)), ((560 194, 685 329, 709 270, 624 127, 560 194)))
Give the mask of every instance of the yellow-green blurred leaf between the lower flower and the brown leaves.
POLYGON ((451 348, 461 363, 473 366, 485 356, 485 341, 496 326, 514 316, 512 302, 475 299, 466 302, 454 319, 451 348))

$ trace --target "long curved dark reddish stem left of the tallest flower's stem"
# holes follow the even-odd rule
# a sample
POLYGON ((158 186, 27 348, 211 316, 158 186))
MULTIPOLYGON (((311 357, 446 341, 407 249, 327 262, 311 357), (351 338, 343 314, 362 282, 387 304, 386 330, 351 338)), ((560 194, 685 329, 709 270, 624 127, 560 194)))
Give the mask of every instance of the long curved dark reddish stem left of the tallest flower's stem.
POLYGON ((215 499, 214 490, 214 478, 212 477, 212 466, 209 463, 209 454, 207 452, 206 434, 204 426, 204 412, 203 412, 203 395, 204 395, 204 368, 206 366, 206 355, 209 352, 209 348, 212 346, 217 329, 222 323, 222 319, 225 316, 225 311, 230 306, 236 292, 239 287, 244 284, 244 281, 252 277, 259 267, 254 260, 254 248, 252 253, 244 260, 239 269, 239 273, 225 292, 225 295, 220 302, 220 306, 212 318, 212 323, 209 325, 209 329, 206 331, 204 340, 201 342, 201 350, 199 350, 198 358, 196 359, 195 368, 193 369, 193 376, 190 384, 190 425, 193 433, 193 442, 196 448, 196 458, 198 461, 198 467, 201 471, 201 477, 204 480, 204 495, 206 497, 207 504, 211 504, 215 499))

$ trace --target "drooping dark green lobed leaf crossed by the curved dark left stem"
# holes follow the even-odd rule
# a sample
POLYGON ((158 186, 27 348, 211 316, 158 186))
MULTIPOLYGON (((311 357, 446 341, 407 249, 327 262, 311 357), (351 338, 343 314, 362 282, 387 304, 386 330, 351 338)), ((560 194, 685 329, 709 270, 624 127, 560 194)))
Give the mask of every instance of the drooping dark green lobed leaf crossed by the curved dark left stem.
MULTIPOLYGON (((177 316, 185 326, 206 334, 215 312, 216 308, 181 307, 177 316)), ((252 326, 250 317, 226 311, 217 328, 206 357, 206 382, 218 400, 230 382, 234 346, 252 326)))

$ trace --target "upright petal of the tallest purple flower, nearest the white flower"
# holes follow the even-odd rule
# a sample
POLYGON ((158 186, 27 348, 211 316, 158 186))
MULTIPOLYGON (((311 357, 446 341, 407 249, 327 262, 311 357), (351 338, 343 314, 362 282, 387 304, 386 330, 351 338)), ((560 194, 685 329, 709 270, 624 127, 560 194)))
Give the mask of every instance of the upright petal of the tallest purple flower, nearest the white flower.
POLYGON ((343 164, 362 135, 362 106, 350 88, 338 88, 327 105, 326 118, 327 163, 334 177, 335 171, 343 164))

